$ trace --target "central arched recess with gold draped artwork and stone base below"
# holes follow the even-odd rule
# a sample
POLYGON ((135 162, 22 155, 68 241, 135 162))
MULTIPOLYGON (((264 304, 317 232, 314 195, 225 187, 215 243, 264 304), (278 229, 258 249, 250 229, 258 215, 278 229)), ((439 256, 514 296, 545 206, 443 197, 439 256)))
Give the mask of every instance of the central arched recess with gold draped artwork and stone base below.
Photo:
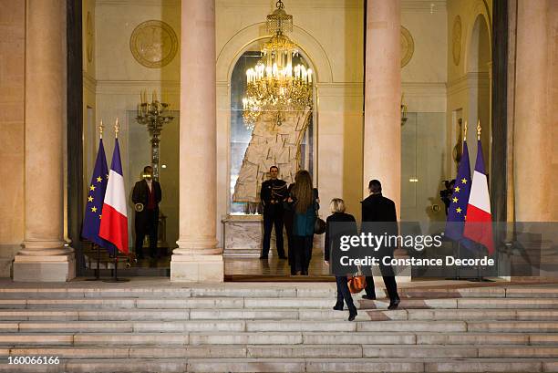
MULTIPOLYGON (((274 124, 274 113, 263 111, 262 117, 250 123, 243 117, 243 98, 246 97, 246 71, 263 57, 261 47, 267 37, 258 37, 243 47, 230 68, 227 218, 223 220, 223 255, 225 279, 243 281, 253 276, 275 279, 288 278, 290 267, 276 258, 274 233, 269 262, 259 260, 262 251, 263 223, 260 205, 261 183, 268 178, 271 165, 280 169, 279 177, 287 183, 294 181, 298 169, 310 171, 316 180, 317 116, 315 88, 311 85, 312 104, 305 110, 294 109, 282 115, 282 123, 274 124), (276 146, 270 139, 276 139, 276 146)), ((292 66, 302 65, 313 71, 311 58, 299 48, 292 57, 292 66)), ((316 239, 319 237, 316 237, 316 239)), ((284 249, 287 249, 284 232, 284 249)), ((316 245, 315 245, 316 247, 316 245)), ((319 256, 320 254, 316 254, 319 256)), ((314 275, 326 275, 322 261, 315 261, 314 275)))

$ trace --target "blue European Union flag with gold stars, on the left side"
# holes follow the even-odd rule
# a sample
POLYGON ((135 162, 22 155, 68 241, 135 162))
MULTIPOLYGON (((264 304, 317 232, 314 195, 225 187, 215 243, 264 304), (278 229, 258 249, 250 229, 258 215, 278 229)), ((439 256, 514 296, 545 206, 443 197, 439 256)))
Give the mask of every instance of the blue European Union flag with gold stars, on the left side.
POLYGON ((107 157, 105 156, 105 148, 101 139, 98 143, 95 170, 93 171, 93 176, 91 176, 91 183, 88 185, 88 201, 81 236, 87 238, 92 243, 97 243, 100 247, 104 247, 110 254, 114 254, 116 253, 115 245, 98 235, 108 182, 109 168, 107 167, 107 157))

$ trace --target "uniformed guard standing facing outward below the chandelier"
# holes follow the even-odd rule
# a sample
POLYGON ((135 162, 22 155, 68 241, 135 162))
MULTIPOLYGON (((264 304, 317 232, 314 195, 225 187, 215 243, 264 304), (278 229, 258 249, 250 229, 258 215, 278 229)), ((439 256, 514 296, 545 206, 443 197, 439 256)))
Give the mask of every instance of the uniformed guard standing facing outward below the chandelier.
POLYGON ((286 259, 283 247, 283 202, 287 197, 286 181, 277 179, 279 168, 269 169, 270 179, 263 181, 260 198, 263 204, 263 246, 260 259, 267 259, 271 242, 271 231, 275 226, 275 245, 280 259, 286 259))

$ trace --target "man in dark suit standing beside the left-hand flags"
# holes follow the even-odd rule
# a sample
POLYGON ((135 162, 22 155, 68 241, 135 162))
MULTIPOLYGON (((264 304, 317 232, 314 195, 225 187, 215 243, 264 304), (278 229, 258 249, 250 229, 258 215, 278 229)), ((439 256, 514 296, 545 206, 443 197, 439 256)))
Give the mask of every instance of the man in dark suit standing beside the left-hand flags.
POLYGON ((153 180, 151 166, 143 168, 143 180, 136 182, 132 201, 136 209, 136 255, 143 259, 143 239, 150 236, 150 256, 157 255, 157 228, 159 227, 159 202, 162 193, 159 181, 153 180))

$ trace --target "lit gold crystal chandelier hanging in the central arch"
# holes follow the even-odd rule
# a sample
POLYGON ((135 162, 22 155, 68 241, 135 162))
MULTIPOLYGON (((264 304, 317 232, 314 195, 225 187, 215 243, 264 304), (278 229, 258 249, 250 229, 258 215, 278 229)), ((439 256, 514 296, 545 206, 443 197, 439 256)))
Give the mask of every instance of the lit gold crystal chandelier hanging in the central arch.
POLYGON ((285 112, 312 106, 312 69, 302 64, 293 67, 298 48, 285 35, 293 31, 293 16, 286 14, 281 0, 275 6, 266 23, 274 36, 263 44, 256 66, 246 70, 243 119, 250 130, 264 112, 274 113, 277 125, 281 125, 285 112))

